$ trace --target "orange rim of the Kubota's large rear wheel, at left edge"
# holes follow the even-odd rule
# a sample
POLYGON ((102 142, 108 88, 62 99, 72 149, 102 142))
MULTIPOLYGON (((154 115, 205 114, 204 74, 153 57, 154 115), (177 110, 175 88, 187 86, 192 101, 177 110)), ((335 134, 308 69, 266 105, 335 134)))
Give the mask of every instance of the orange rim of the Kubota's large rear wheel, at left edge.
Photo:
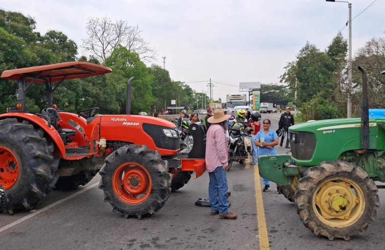
POLYGON ((8 148, 0 147, 0 185, 12 187, 19 178, 19 162, 8 148))

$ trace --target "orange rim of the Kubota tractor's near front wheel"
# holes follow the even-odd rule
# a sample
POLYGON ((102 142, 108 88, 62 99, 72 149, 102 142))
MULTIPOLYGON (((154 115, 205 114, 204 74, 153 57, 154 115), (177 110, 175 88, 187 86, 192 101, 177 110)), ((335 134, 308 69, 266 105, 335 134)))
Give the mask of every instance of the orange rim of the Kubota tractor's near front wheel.
POLYGON ((150 196, 150 173, 137 162, 121 164, 113 173, 112 181, 113 191, 125 203, 140 204, 150 196))

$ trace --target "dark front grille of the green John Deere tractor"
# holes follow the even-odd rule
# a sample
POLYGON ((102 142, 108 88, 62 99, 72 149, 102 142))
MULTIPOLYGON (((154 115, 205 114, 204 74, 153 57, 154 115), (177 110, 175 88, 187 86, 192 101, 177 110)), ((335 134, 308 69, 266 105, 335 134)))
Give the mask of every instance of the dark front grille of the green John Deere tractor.
POLYGON ((316 137, 312 133, 290 133, 290 148, 294 159, 310 160, 316 149, 316 137))

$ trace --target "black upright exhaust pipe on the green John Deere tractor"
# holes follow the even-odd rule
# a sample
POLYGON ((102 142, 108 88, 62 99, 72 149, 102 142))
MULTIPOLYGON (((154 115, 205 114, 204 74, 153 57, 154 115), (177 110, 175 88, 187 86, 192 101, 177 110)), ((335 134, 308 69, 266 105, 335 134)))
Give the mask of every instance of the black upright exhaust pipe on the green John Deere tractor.
POLYGON ((369 98, 367 94, 366 70, 361 66, 358 69, 362 72, 362 101, 361 101, 361 147, 356 152, 363 155, 369 148, 369 98))

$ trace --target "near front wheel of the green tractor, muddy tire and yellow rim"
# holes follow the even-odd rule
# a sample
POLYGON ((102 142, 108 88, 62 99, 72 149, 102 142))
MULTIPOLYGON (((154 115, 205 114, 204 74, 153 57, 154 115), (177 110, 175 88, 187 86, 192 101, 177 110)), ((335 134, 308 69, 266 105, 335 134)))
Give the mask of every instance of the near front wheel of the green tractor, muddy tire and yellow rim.
POLYGON ((377 192, 362 168, 346 161, 324 161, 299 179, 295 205, 305 226, 316 235, 348 241, 375 221, 380 206, 377 192))

